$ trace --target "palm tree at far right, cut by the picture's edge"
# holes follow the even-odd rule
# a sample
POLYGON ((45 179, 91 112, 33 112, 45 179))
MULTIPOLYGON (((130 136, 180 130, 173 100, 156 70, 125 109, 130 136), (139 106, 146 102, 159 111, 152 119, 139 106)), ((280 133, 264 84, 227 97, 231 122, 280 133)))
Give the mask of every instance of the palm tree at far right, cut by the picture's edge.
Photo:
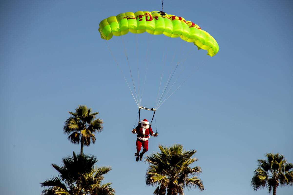
POLYGON ((277 187, 293 185, 293 164, 287 163, 283 155, 267 153, 267 159, 258 160, 258 168, 254 171, 251 186, 256 191, 267 187, 269 193, 273 189, 276 195, 277 187))

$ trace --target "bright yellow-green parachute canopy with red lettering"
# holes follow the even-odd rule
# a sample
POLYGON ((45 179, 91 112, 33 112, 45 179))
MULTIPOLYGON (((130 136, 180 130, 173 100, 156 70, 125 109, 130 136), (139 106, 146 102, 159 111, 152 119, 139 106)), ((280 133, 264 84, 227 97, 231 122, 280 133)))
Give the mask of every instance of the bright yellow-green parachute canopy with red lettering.
POLYGON ((214 56, 219 51, 217 41, 198 25, 176 15, 161 15, 159 11, 125 12, 110 16, 100 22, 99 32, 105 40, 111 39, 113 35, 121 36, 128 32, 164 34, 193 42, 198 49, 207 50, 209 56, 214 56))

